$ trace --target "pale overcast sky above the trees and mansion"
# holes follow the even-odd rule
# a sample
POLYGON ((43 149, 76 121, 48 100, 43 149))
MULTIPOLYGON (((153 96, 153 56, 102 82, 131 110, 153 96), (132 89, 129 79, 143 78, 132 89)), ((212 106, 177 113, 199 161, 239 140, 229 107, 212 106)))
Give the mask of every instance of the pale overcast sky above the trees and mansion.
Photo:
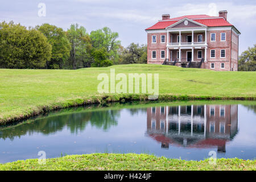
MULTIPOLYGON (((90 33, 102 27, 118 32, 123 46, 131 42, 145 44, 146 28, 162 18, 193 14, 218 16, 219 10, 228 10, 228 21, 241 32, 240 50, 256 43, 256 1, 254 0, 0 0, 0 21, 21 23, 35 27, 50 23, 64 30, 71 23, 79 23, 90 33), (39 16, 39 3, 46 5, 46 16, 39 16)), ((42 13, 40 11, 39 13, 42 13)))

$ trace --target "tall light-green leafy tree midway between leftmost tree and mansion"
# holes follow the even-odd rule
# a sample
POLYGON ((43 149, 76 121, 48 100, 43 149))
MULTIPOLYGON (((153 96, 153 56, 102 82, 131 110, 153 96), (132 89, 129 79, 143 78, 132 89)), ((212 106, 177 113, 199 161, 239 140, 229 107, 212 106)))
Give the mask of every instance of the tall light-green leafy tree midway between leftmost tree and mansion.
POLYGON ((92 40, 93 48, 105 48, 107 52, 107 59, 112 61, 114 64, 118 63, 118 49, 121 45, 120 40, 117 40, 117 38, 118 33, 112 32, 108 27, 90 32, 90 39, 92 40))

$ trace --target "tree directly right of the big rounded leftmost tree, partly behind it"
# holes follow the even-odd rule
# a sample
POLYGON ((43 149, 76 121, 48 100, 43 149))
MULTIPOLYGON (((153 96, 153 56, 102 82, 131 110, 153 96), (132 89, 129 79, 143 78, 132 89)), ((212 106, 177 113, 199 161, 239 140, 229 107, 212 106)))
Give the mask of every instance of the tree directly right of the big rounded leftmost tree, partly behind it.
POLYGON ((52 46, 51 60, 47 61, 47 69, 62 69, 65 62, 69 59, 71 45, 62 28, 44 23, 42 26, 36 26, 46 36, 47 41, 52 46))

